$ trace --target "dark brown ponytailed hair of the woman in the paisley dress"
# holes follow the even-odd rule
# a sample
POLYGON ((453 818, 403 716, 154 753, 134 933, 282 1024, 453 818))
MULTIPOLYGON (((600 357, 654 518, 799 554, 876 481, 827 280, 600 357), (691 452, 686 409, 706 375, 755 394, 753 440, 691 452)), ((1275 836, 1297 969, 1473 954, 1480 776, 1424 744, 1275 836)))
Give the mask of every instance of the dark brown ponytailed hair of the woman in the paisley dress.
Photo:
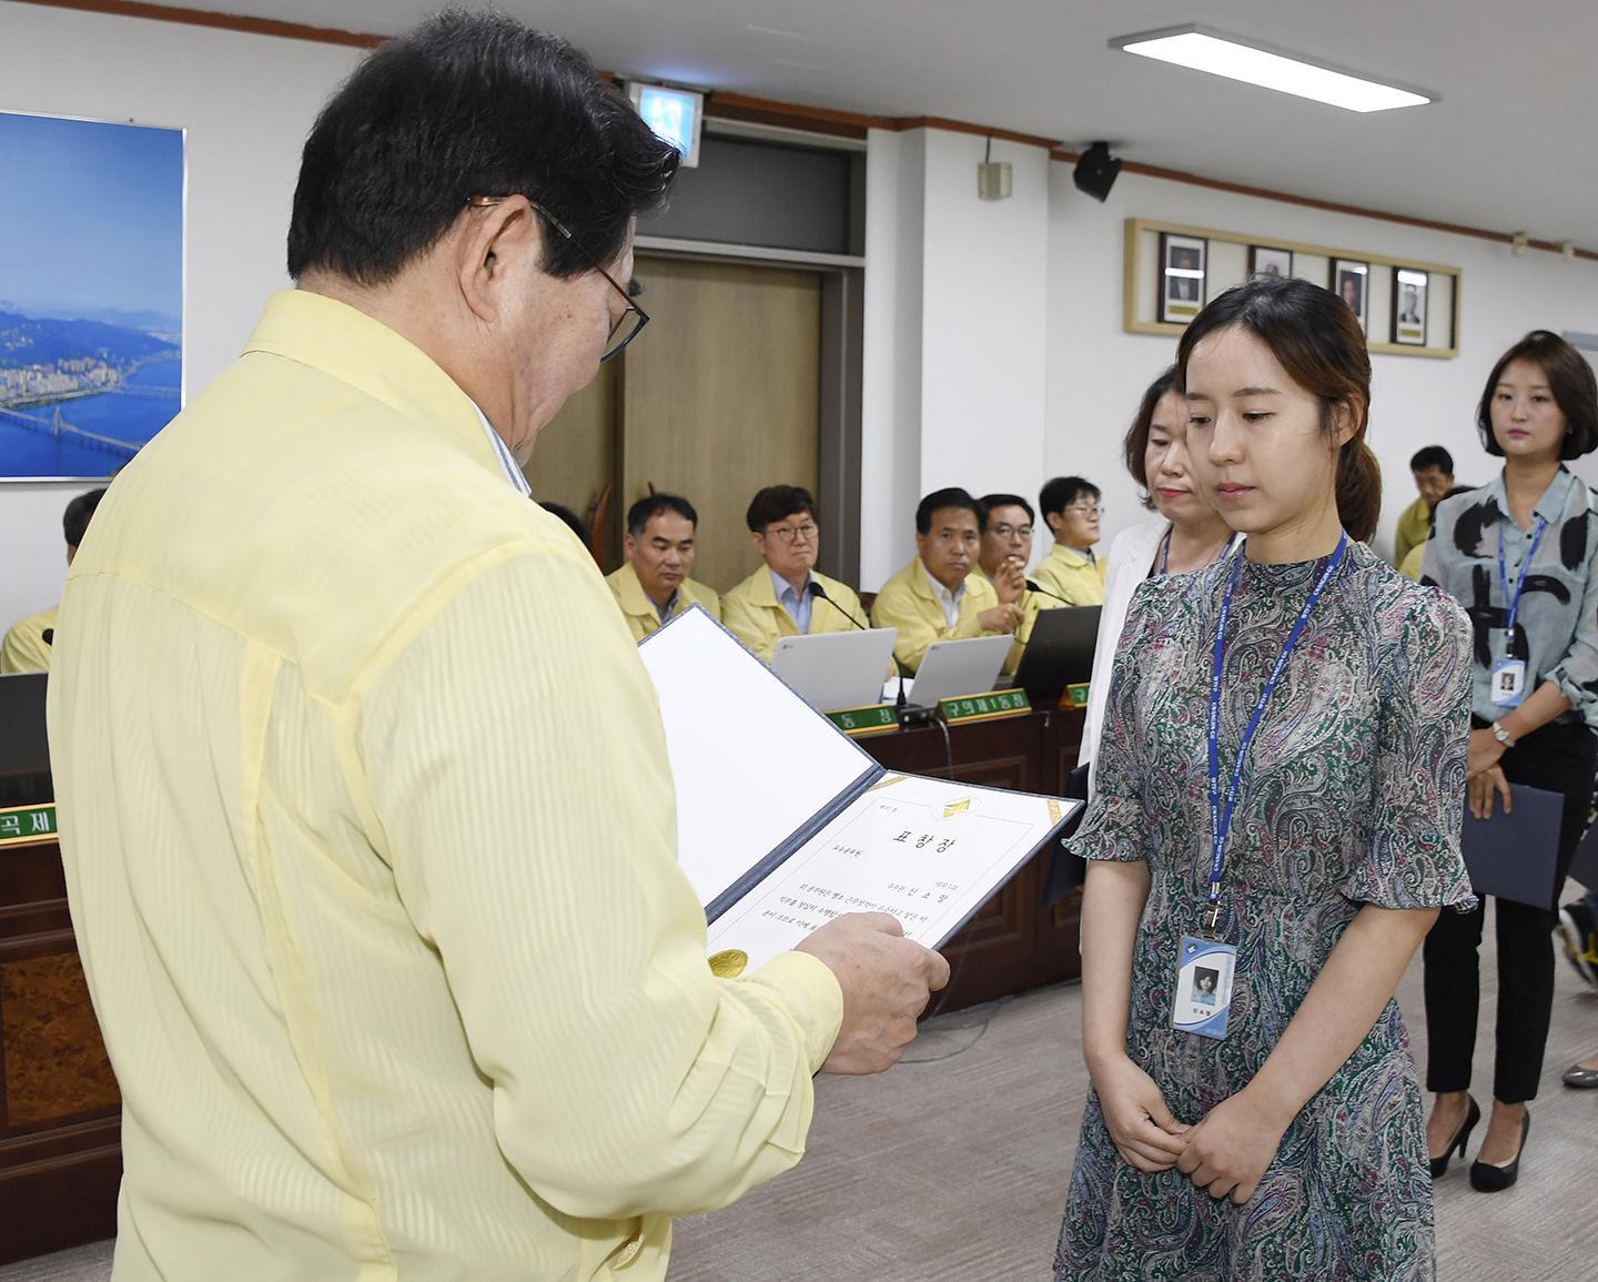
POLYGON ((1382 512, 1382 470, 1365 444, 1371 417, 1371 355, 1358 317, 1341 297, 1293 277, 1254 277, 1227 289, 1183 331, 1176 377, 1187 385, 1194 347, 1218 329, 1242 326, 1299 387, 1320 400, 1320 427, 1336 430, 1338 406, 1354 414, 1354 435, 1338 456, 1338 520, 1368 542, 1382 512))

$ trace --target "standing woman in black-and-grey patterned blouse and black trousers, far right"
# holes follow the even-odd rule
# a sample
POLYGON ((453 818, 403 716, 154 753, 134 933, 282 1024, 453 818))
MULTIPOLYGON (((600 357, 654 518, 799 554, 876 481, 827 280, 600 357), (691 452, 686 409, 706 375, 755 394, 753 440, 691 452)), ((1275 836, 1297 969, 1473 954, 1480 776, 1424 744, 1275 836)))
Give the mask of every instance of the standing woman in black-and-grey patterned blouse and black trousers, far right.
MULTIPOLYGON (((1564 794, 1553 894, 1587 822, 1598 764, 1598 502, 1563 460, 1598 446, 1592 366, 1558 334, 1536 329, 1505 352, 1481 393, 1477 428, 1504 472, 1445 499, 1421 582, 1451 593, 1475 630, 1472 646, 1470 810, 1491 817, 1510 783, 1564 794)), ((1493 1117, 1470 1183, 1515 1183, 1553 1010, 1555 902, 1497 900, 1499 1013, 1493 1117)), ((1446 916, 1425 940, 1427 1122, 1433 1175, 1464 1154, 1480 1117, 1470 1058, 1480 1005, 1483 908, 1446 916)))

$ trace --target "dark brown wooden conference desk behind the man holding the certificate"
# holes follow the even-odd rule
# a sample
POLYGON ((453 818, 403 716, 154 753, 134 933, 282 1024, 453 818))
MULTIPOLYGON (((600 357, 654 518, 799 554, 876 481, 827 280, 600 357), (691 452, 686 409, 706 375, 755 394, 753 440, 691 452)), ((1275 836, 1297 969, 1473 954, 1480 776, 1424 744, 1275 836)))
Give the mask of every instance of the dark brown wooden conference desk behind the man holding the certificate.
MULTIPOLYGON (((1061 793, 1080 711, 949 727, 954 777, 1061 793)), ((861 740, 890 770, 946 774, 936 726, 861 740)), ((957 1010, 1082 972, 1080 892, 1042 906, 1037 855, 946 950, 957 1010)), ((121 1097, 78 961, 61 849, 0 846, 0 1263, 110 1237, 121 1178, 121 1097)))

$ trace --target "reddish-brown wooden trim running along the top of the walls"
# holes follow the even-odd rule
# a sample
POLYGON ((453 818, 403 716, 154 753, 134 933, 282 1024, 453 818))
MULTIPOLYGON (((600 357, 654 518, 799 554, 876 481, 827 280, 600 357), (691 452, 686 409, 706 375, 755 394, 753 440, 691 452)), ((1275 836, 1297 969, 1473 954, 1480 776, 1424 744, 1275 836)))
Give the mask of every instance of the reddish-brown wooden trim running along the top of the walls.
MULTIPOLYGON (((83 10, 88 13, 112 13, 123 18, 147 18, 157 22, 185 22, 193 27, 221 27, 224 30, 249 32, 251 35, 276 35, 286 40, 313 40, 323 45, 348 45, 360 50, 374 50, 388 37, 371 35, 368 32, 348 32, 337 27, 310 27, 302 22, 278 22, 272 18, 244 18, 233 13, 214 13, 211 10, 189 10, 179 5, 147 5, 139 0, 13 0, 14 3, 40 5, 56 10, 83 10)), ((612 74, 602 72, 606 78, 612 74)), ((980 134, 981 137, 1002 137, 1010 142, 1024 142, 1032 147, 1048 147, 1050 158, 1066 165, 1075 165, 1080 155, 1061 149, 1055 141, 1021 134, 1012 129, 992 129, 986 125, 972 125, 965 120, 946 120, 936 115, 885 117, 865 115, 860 112, 839 112, 829 107, 807 107, 799 102, 778 102, 769 98, 751 98, 740 93, 711 91, 706 107, 708 113, 721 115, 727 120, 748 120, 756 125, 781 125, 786 128, 802 128, 810 133, 833 134, 834 137, 865 137, 868 129, 949 129, 952 133, 980 134)), ((1183 173, 1181 169, 1162 169, 1157 165, 1139 165, 1128 160, 1123 166, 1128 174, 1146 177, 1163 177, 1168 182, 1186 182, 1194 187, 1208 187, 1216 192, 1232 192, 1235 195, 1258 197, 1261 200, 1278 200, 1285 205, 1301 205, 1309 209, 1326 209, 1334 214, 1352 214, 1354 217, 1374 217, 1382 222, 1397 222, 1405 227, 1424 227, 1429 232, 1446 232, 1456 237, 1475 237, 1491 240, 1499 245, 1513 245, 1515 238, 1509 232, 1489 232, 1483 227, 1465 227, 1459 222, 1438 222, 1435 219, 1411 217, 1409 214, 1392 214, 1384 209, 1365 209, 1358 205, 1339 205, 1331 200, 1315 200, 1290 192, 1275 192, 1269 187, 1250 187, 1242 182, 1224 182, 1214 177, 1183 173)), ((1531 240, 1528 248, 1544 253, 1560 254, 1564 246, 1550 240, 1531 240)), ((1598 261, 1598 251, 1577 249, 1576 257, 1598 261)))

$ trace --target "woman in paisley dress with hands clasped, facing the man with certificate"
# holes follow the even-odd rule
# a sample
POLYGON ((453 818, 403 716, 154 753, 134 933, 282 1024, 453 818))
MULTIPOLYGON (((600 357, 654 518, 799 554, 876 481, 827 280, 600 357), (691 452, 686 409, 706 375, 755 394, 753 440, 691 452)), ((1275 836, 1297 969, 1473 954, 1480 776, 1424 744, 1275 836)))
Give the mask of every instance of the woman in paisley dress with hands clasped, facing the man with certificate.
POLYGON ((1381 481, 1363 443, 1365 336, 1334 294, 1299 280, 1227 291, 1189 324, 1178 369, 1198 481, 1246 543, 1139 585, 1115 657, 1099 793, 1069 842, 1090 860, 1093 1090, 1056 1279, 1432 1279, 1421 1089, 1392 996, 1438 910, 1473 902, 1459 855, 1470 628, 1354 542, 1376 528, 1381 481), (1229 1031, 1183 1033, 1178 948, 1210 900, 1222 601, 1224 804, 1320 580, 1234 794, 1218 922, 1237 950, 1229 1031))

